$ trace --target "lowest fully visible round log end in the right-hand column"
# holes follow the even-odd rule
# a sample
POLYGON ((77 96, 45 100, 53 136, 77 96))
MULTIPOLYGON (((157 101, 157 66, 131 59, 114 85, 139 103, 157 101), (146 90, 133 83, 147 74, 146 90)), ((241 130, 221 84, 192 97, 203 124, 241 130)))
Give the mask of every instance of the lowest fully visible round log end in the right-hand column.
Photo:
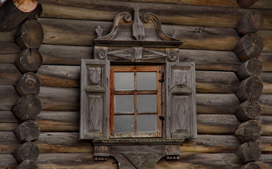
POLYGON ((237 148, 236 155, 242 163, 257 161, 261 156, 261 149, 256 142, 245 142, 237 148))

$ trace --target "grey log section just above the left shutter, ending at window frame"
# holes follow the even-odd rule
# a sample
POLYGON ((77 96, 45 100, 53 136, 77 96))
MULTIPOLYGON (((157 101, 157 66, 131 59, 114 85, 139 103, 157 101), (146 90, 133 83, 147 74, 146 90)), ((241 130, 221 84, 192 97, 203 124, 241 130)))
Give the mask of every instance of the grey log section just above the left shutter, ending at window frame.
POLYGON ((93 58, 93 47, 88 46, 42 44, 39 51, 45 65, 81 65, 81 59, 93 58))

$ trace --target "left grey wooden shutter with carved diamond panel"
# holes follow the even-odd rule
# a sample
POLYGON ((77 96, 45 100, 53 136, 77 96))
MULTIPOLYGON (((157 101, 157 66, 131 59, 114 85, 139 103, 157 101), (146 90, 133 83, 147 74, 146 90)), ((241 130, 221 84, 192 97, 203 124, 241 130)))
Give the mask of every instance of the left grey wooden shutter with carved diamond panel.
POLYGON ((110 61, 81 61, 81 139, 109 137, 110 61))

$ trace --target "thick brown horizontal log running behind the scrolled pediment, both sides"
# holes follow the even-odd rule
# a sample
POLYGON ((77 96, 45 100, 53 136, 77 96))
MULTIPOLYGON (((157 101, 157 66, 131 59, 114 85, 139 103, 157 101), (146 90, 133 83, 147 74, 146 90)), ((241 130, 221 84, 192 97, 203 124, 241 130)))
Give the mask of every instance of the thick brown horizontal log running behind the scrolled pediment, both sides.
MULTIPOLYGON (((90 20, 40 18, 39 22, 45 30, 44 44, 93 46, 93 39, 97 38, 95 28, 98 25, 103 28, 103 35, 107 35, 112 29, 110 22, 90 20), (61 26, 59 23, 61 23, 61 26)), ((184 42, 181 46, 182 49, 233 51, 235 44, 240 39, 237 32, 231 28, 201 27, 201 32, 194 32, 199 27, 162 25, 162 30, 168 35, 173 29, 177 30, 176 38, 180 38, 184 42)))

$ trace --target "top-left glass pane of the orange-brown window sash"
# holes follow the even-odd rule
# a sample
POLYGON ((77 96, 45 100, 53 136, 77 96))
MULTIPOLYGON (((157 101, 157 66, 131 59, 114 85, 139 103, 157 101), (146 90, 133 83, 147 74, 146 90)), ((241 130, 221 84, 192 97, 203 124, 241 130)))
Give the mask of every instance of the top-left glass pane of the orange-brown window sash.
POLYGON ((134 73, 114 73, 115 90, 134 90, 134 73))

